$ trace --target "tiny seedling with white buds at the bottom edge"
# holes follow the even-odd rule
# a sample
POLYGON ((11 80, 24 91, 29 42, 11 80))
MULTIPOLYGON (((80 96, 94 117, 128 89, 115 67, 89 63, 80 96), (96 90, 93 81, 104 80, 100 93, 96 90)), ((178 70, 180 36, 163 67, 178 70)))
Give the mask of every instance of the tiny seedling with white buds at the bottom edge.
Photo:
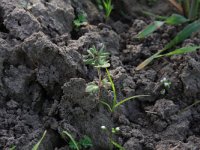
POLYGON ((107 136, 109 137, 109 145, 110 145, 109 147, 110 147, 110 150, 113 149, 113 146, 114 146, 115 148, 117 148, 118 150, 125 150, 120 144, 118 144, 117 142, 115 142, 115 141, 113 140, 114 135, 118 134, 119 131, 120 131, 120 128, 119 128, 119 127, 112 128, 111 131, 108 130, 108 128, 105 127, 105 126, 101 126, 101 129, 102 129, 103 131, 105 131, 106 134, 107 134, 107 136))

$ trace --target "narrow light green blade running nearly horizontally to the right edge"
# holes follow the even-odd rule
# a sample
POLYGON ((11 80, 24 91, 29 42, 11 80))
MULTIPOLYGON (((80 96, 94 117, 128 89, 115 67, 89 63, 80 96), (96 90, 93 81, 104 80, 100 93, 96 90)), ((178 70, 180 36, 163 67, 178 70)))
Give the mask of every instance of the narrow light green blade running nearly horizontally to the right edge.
POLYGON ((200 48, 200 46, 182 47, 182 48, 176 49, 176 50, 174 50, 172 52, 169 52, 167 54, 158 55, 157 57, 185 54, 185 53, 189 53, 189 52, 194 52, 199 48, 200 48))

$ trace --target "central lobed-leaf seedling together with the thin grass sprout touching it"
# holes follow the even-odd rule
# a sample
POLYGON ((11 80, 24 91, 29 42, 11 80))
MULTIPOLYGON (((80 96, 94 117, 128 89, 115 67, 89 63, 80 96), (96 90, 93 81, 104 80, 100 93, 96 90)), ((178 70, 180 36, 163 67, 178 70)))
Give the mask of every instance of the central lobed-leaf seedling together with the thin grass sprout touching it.
POLYGON ((117 101, 117 93, 116 93, 116 89, 115 89, 115 85, 114 82, 112 80, 112 77, 110 75, 110 72, 108 71, 108 67, 110 67, 110 63, 109 63, 109 53, 105 52, 104 50, 104 45, 102 45, 102 47, 100 48, 100 50, 97 50, 96 47, 92 47, 90 49, 87 50, 88 55, 84 55, 84 62, 88 65, 91 65, 95 68, 97 68, 98 71, 98 82, 90 82, 87 84, 86 87, 86 92, 88 93, 92 93, 95 94, 98 92, 98 99, 99 101, 105 105, 109 111, 114 112, 114 110, 121 106, 122 104, 124 104, 125 102, 132 100, 132 99, 136 99, 136 98, 140 98, 140 97, 144 97, 147 95, 137 95, 137 96, 132 96, 132 97, 128 97, 126 99, 123 99, 121 101, 117 101), (101 69, 105 69, 106 70, 106 74, 107 74, 107 78, 102 79, 102 72, 101 69), (110 105, 109 103, 107 103, 106 101, 101 100, 101 89, 104 87, 105 89, 108 89, 111 86, 112 88, 112 93, 113 93, 113 100, 112 100, 112 104, 110 105))

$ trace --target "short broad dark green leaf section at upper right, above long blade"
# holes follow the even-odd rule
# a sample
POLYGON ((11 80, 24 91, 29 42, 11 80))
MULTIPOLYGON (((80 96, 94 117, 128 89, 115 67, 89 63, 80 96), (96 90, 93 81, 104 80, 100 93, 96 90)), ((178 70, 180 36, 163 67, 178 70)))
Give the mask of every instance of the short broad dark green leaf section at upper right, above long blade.
POLYGON ((181 16, 179 14, 172 14, 165 20, 165 23, 169 25, 178 25, 187 21, 189 21, 189 19, 186 19, 184 16, 181 16))

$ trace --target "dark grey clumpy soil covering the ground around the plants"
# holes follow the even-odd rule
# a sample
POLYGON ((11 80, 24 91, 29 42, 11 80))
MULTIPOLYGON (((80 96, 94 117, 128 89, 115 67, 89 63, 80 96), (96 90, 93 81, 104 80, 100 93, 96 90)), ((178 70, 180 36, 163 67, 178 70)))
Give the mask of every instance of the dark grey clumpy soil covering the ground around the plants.
MULTIPOLYGON (((188 107, 200 100, 200 53, 135 69, 182 29, 164 26, 146 39, 134 38, 151 22, 139 10, 166 15, 171 11, 167 3, 149 7, 144 0, 115 0, 105 23, 94 1, 26 2, 0 0, 0 149, 30 150, 47 130, 39 150, 67 150, 68 141, 61 136, 66 130, 75 139, 89 136, 91 150, 107 150, 102 125, 120 127, 115 140, 126 150, 200 149, 200 105, 188 107), (74 30, 72 22, 81 10, 89 25, 74 30), (111 54, 109 70, 118 100, 149 97, 129 101, 110 114, 85 92, 97 72, 83 63, 82 55, 101 43, 111 54), (172 83, 165 94, 163 78, 172 83)), ((195 34, 177 47, 199 44, 200 34, 195 34)))

